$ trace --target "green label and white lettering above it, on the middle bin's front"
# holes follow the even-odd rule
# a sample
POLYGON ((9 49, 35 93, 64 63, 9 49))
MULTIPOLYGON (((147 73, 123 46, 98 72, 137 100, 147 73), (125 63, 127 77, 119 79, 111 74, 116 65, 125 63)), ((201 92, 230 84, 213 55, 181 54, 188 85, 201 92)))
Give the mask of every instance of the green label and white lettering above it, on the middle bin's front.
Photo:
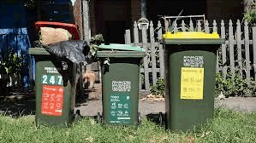
POLYGON ((109 95, 110 123, 131 122, 131 82, 112 81, 112 92, 109 95))

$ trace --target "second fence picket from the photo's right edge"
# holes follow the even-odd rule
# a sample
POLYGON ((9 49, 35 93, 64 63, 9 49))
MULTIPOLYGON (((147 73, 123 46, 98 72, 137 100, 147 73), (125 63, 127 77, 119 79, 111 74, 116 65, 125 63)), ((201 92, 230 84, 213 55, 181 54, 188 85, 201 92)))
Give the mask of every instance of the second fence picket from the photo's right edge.
POLYGON ((245 20, 244 22, 244 39, 245 39, 245 62, 246 62, 246 79, 247 84, 249 85, 250 82, 250 54, 249 54, 249 28, 248 22, 245 20))

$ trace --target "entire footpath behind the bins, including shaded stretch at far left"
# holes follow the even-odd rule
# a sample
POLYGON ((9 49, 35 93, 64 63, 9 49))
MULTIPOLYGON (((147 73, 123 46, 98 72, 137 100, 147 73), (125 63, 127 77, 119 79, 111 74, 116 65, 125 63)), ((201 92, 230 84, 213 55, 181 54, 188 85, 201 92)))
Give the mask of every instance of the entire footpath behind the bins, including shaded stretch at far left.
MULTIPOLYGON (((8 101, 4 101, 1 97, 1 112, 9 110, 13 115, 19 115, 21 112, 24 115, 35 113, 35 93, 31 91, 20 92, 18 95, 14 94, 7 98, 8 101), (12 98, 15 97, 15 98, 12 98), (23 97, 24 99, 19 99, 23 97), (12 100, 11 100, 12 99, 12 100), (15 99, 15 100, 14 100, 15 99)), ((95 89, 92 92, 87 93, 89 99, 86 96, 79 97, 75 111, 80 109, 82 116, 95 116, 97 112, 102 115, 102 101, 101 101, 101 84, 95 84, 95 89)), ((256 98, 255 97, 230 97, 225 100, 216 100, 215 107, 226 106, 231 109, 245 110, 247 112, 256 111, 256 98)), ((142 116, 148 114, 158 114, 160 111, 165 113, 165 102, 148 102, 139 100, 138 111, 142 116)))

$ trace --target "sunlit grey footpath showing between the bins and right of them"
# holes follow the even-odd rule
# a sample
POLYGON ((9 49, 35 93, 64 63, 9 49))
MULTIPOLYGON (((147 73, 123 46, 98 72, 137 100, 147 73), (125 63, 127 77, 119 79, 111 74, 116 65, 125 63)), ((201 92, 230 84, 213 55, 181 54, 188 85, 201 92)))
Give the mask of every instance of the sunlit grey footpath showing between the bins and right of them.
MULTIPOLYGON (((95 116, 97 112, 102 115, 102 101, 101 101, 101 85, 95 85, 95 91, 89 93, 89 98, 98 98, 99 100, 86 101, 80 104, 76 109, 80 109, 82 116, 95 116)), ((231 109, 246 110, 248 112, 256 111, 256 98, 255 97, 230 97, 225 100, 216 100, 215 108, 221 105, 231 109)), ((150 113, 159 113, 160 111, 165 113, 165 102, 148 102, 139 101, 139 112, 142 116, 150 113)))

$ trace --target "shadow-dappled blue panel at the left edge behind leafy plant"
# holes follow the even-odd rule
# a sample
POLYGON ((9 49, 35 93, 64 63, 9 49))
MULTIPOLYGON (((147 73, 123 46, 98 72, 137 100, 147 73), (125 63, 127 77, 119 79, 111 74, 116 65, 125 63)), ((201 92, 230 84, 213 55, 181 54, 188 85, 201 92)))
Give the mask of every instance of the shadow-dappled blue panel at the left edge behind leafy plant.
POLYGON ((8 47, 14 49, 14 52, 21 55, 24 52, 23 68, 21 69, 21 78, 24 89, 29 87, 32 80, 35 80, 35 59, 30 58, 28 49, 31 47, 27 31, 27 15, 21 1, 3 1, 1 5, 1 59, 8 53, 8 47), (29 68, 31 67, 31 68, 29 68))

